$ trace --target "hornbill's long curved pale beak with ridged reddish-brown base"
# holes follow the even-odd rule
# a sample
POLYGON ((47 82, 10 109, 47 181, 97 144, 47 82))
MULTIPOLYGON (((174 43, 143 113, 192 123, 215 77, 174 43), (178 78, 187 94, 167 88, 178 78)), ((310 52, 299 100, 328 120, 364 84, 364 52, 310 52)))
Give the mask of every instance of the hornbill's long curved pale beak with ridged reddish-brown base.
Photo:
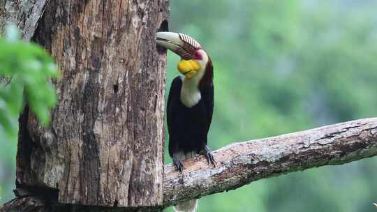
POLYGON ((168 50, 175 52, 182 59, 193 59, 196 50, 202 47, 195 39, 183 33, 174 33, 169 31, 160 31, 156 33, 156 43, 168 50))

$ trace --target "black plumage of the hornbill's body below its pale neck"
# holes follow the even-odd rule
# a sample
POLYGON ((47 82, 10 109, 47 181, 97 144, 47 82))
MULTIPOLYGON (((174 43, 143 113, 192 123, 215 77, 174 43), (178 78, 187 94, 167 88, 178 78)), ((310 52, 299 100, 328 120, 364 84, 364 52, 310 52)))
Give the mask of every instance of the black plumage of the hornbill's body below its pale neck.
POLYGON ((207 134, 214 111, 214 86, 211 83, 200 86, 200 100, 187 107, 180 98, 182 78, 175 77, 170 86, 167 107, 169 154, 183 151, 200 153, 207 146, 207 134))

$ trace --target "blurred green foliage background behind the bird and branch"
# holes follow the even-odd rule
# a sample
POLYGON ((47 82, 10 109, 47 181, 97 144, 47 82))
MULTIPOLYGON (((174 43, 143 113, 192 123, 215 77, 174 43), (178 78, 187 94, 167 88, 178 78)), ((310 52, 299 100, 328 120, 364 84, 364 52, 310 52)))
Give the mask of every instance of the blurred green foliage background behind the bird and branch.
MULTIPOLYGON (((200 41, 214 63, 212 149, 376 116, 376 1, 171 0, 170 4, 170 31, 200 41)), ((168 54, 167 91, 177 75, 178 60, 168 54)), ((0 203, 13 196, 16 150, 15 141, 2 138, 0 203)), ((167 152, 165 156, 170 162, 167 152)), ((369 158, 202 197, 198 211, 372 212, 376 182, 377 158, 369 158)))

